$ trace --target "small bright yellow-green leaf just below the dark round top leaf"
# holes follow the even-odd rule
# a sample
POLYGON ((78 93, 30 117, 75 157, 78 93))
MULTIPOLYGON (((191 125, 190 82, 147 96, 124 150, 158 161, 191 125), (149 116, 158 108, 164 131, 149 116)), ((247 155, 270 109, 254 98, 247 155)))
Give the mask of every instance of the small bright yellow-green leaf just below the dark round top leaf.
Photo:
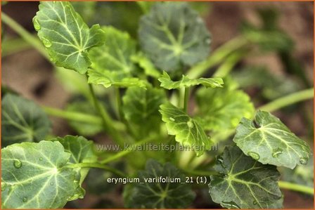
MULTIPOLYGON (((144 1, 137 1, 144 2, 144 1)), ((137 53, 136 55, 131 56, 131 60, 134 63, 137 63, 141 68, 143 68, 146 75, 158 78, 160 77, 160 71, 155 68, 150 59, 144 55, 142 52, 137 53)))

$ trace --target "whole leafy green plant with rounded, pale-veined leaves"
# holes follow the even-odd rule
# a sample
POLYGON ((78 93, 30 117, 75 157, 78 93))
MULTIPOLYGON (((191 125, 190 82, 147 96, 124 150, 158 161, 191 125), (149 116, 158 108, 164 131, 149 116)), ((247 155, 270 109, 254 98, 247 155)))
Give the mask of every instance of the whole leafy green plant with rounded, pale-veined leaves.
MULTIPOLYGON (((33 23, 41 44, 32 39, 37 41, 34 45, 56 65, 68 85, 85 82, 86 89, 83 99, 72 100, 66 110, 42 108, 15 93, 4 95, 1 206, 62 208, 84 197, 84 179, 88 179, 88 192, 91 188, 104 193, 111 187, 103 180, 115 177, 141 179, 142 183, 123 185, 128 208, 187 208, 195 199, 192 188, 199 178, 198 184, 209 189, 209 200, 223 207, 281 208, 277 166, 306 165, 309 145, 267 108, 255 112, 250 96, 229 74, 233 65, 219 67, 213 77, 200 75, 224 60, 235 63, 238 55, 248 53, 248 46, 258 44, 266 51, 276 46, 283 51, 290 41, 276 29, 270 32, 278 38, 271 36, 276 44, 266 37, 257 40, 253 34, 268 29, 247 26, 242 39, 212 55, 210 32, 190 4, 139 2, 139 6, 144 14, 134 39, 113 26, 89 27, 84 20, 93 19, 89 10, 95 3, 39 4, 33 23), (76 12, 82 11, 80 4, 85 9, 82 16, 76 12), (239 48, 236 56, 233 53, 239 48), (115 99, 105 98, 104 90, 106 97, 109 92, 115 99), (194 109, 189 108, 190 101, 194 109), (121 148, 163 143, 191 151, 100 151, 83 136, 51 136, 47 114, 68 119, 72 129, 86 138, 104 131, 121 148), (232 135, 221 154, 210 151, 232 135), (117 166, 120 159, 127 166, 117 166), (159 177, 180 182, 146 183, 159 177), (89 179, 100 184, 89 185, 89 179)), ((2 17, 11 20, 5 14, 2 17)))

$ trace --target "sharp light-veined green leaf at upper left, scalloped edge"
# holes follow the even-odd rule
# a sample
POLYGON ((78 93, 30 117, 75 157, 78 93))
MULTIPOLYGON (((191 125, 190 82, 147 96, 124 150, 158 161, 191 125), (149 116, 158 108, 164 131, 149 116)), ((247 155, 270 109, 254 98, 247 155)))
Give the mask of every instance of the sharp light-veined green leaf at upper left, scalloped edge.
POLYGON ((90 29, 68 1, 41 1, 33 22, 51 60, 80 74, 91 65, 89 49, 104 43, 99 25, 90 29))

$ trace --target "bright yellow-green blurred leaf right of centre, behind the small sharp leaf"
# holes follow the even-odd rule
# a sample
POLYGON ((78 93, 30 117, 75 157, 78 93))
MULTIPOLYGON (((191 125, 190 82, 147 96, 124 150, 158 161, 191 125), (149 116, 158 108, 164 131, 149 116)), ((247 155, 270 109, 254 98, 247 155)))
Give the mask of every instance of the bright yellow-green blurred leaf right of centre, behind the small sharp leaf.
POLYGON ((254 114, 250 97, 238 90, 230 78, 225 78, 224 84, 224 88, 200 88, 196 93, 196 115, 206 130, 235 129, 242 117, 254 114))

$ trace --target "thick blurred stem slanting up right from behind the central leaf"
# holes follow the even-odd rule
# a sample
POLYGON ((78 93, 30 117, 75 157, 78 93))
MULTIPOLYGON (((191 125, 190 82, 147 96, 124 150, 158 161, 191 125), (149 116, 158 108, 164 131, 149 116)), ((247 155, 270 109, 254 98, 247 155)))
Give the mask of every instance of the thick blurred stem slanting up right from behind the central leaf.
POLYGON ((207 58, 207 60, 195 65, 190 70, 188 70, 188 77, 190 78, 198 78, 203 75, 210 67, 214 67, 214 65, 218 65, 221 63, 226 56, 230 55, 234 51, 246 46, 248 41, 246 41, 243 37, 236 37, 226 42, 223 46, 220 46, 215 50, 211 55, 207 58))

